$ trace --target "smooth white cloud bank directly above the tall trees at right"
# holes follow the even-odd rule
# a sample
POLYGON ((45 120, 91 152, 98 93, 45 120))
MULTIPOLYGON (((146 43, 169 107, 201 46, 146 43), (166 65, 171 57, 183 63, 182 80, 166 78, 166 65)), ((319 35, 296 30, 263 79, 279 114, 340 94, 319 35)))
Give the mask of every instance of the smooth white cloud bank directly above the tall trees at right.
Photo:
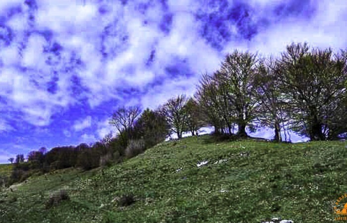
POLYGON ((263 56, 280 56, 286 50, 286 46, 292 42, 307 42, 311 47, 331 47, 334 50, 346 48, 347 33, 344 32, 347 22, 346 2, 319 1, 314 5, 317 9, 310 19, 289 16, 281 21, 272 21, 267 29, 262 30, 251 41, 230 42, 224 53, 239 49, 259 52, 263 56))

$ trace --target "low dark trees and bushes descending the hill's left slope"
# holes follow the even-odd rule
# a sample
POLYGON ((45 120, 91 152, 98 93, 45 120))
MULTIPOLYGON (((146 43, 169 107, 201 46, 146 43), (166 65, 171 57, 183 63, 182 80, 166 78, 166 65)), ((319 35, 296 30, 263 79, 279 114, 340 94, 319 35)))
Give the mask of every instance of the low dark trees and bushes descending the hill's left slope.
POLYGON ((120 107, 110 121, 117 130, 116 137, 108 134, 92 145, 82 143, 78 146, 62 146, 31 151, 27 155, 19 154, 14 162, 9 183, 23 181, 35 172, 49 172, 68 167, 80 167, 84 170, 121 162, 142 153, 147 148, 163 141, 169 134, 169 125, 159 111, 145 110, 139 107, 120 107))

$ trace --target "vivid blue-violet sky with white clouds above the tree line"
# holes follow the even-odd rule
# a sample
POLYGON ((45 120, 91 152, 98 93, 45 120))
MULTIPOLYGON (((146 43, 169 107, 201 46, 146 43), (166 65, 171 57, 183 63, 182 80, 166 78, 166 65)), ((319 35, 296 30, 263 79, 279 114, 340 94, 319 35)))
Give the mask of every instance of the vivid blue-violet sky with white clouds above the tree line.
POLYGON ((193 95, 236 49, 346 49, 346 27, 346 0, 1 0, 0 163, 100 140, 117 106, 193 95))

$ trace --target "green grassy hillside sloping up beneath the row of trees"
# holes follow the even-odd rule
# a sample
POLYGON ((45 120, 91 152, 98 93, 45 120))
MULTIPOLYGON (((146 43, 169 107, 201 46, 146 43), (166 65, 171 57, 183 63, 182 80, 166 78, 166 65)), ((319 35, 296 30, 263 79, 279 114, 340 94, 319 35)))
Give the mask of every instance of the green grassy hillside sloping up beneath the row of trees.
POLYGON ((0 222, 327 223, 347 192, 346 170, 344 142, 188 137, 105 169, 64 169, 3 189, 0 222), (60 189, 69 199, 47 208, 60 189), (124 195, 134 202, 125 206, 124 195))

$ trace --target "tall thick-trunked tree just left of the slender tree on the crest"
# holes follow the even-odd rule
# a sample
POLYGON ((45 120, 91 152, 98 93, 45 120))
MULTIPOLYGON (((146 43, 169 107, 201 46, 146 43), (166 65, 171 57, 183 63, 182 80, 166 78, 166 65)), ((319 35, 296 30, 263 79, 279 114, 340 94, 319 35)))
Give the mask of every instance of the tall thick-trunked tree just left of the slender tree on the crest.
POLYGON ((226 56, 217 73, 223 83, 220 87, 228 91, 230 104, 226 106, 232 106, 239 136, 247 136, 246 126, 255 117, 256 100, 253 97, 252 78, 256 62, 256 55, 234 51, 226 56))

